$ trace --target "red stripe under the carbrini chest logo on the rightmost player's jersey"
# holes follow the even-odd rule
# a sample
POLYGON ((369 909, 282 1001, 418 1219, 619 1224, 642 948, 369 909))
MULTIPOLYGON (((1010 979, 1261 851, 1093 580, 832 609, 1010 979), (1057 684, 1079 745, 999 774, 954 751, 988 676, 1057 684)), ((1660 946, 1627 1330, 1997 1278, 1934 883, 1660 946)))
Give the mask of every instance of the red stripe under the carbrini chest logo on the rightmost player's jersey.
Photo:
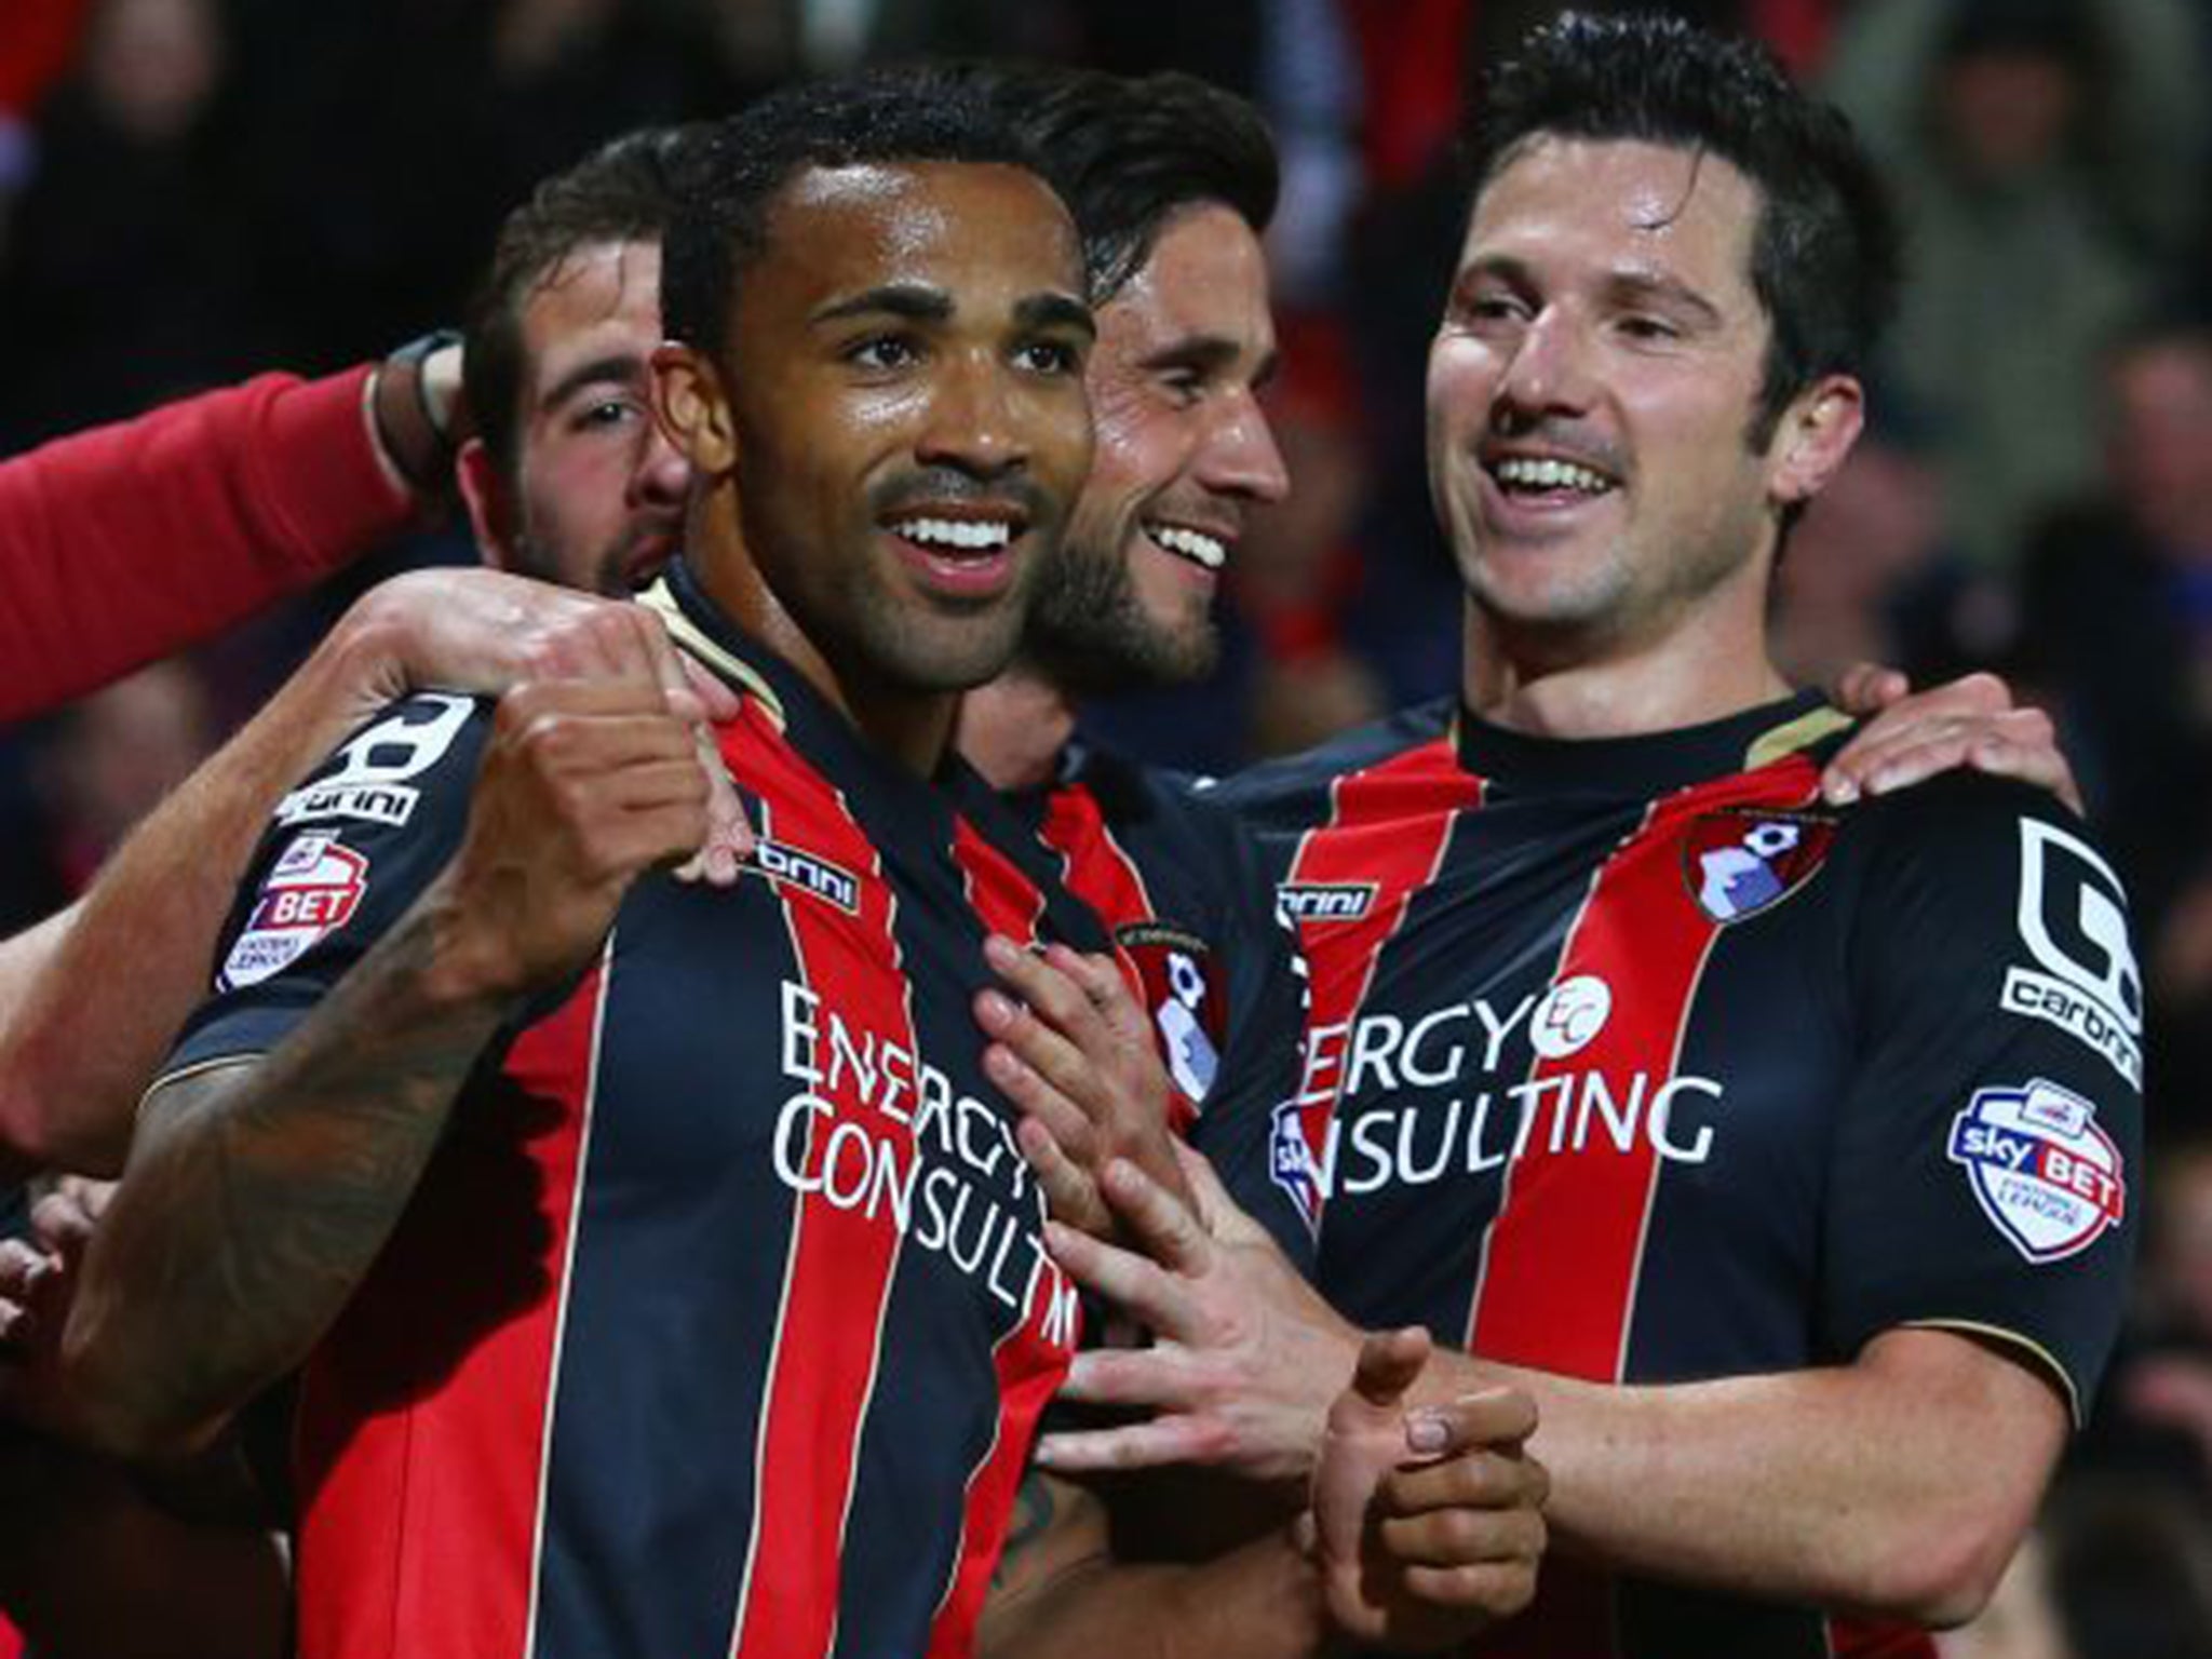
MULTIPOLYGON (((1298 1128, 1327 1172, 1329 1119, 1345 1084, 1345 1042, 1383 947, 1413 894, 1436 878, 1458 814, 1482 805, 1482 779, 1460 768, 1449 737, 1394 754, 1329 785, 1329 823, 1307 830, 1283 889, 1345 891, 1356 916, 1298 918, 1312 971, 1298 1128)), ((1323 1181, 1323 1188, 1327 1181, 1323 1181)))

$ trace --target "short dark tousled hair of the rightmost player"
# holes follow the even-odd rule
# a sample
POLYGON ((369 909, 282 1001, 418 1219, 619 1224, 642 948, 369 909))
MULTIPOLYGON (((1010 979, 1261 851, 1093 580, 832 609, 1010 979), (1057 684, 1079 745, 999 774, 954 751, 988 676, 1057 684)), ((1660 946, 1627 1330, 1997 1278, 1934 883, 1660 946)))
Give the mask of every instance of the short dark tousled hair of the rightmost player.
POLYGON ((1765 46, 1681 18, 1568 11, 1528 33, 1473 108, 1471 201, 1544 135, 1708 153, 1759 186, 1750 276, 1772 336, 1754 442, 1823 374, 1865 374, 1896 305, 1896 221, 1851 124, 1765 46))

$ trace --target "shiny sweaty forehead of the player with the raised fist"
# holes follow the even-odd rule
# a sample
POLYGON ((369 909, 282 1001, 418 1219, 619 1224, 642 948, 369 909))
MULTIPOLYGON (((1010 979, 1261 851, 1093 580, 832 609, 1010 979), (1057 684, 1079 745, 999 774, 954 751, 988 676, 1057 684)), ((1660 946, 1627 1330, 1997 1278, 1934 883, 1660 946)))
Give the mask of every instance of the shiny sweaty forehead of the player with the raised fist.
POLYGON ((1042 179, 998 161, 812 166, 776 192, 748 281, 836 290, 947 272, 1079 292, 1075 226, 1042 179))

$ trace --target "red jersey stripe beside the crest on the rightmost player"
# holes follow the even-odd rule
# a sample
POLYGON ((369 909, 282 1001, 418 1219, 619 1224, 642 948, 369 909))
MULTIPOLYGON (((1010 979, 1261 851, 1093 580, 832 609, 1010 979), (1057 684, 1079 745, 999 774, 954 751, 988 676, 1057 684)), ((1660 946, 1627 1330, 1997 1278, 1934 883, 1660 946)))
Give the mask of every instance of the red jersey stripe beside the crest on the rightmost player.
MULTIPOLYGON (((1652 1097, 1674 1073, 1697 980, 1721 929, 1683 878, 1681 832, 1717 807, 1801 805, 1812 776, 1805 763, 1790 763, 1674 794, 1646 814, 1593 878, 1553 987, 1588 975, 1613 998, 1610 1015, 1579 1048, 1531 1066, 1537 1091, 1551 1079, 1559 1086, 1528 1106, 1526 1144, 1509 1164, 1484 1241, 1467 1323, 1467 1347, 1475 1354, 1621 1380, 1659 1155, 1648 1130, 1621 1148, 1606 1113, 1648 1124, 1652 1097)), ((1537 1004, 1531 1035, 1542 1018, 1537 1004)), ((1606 1575, 1577 1562, 1546 1564, 1535 1606, 1515 1619, 1500 1652, 1608 1655, 1613 1621, 1606 1575)))

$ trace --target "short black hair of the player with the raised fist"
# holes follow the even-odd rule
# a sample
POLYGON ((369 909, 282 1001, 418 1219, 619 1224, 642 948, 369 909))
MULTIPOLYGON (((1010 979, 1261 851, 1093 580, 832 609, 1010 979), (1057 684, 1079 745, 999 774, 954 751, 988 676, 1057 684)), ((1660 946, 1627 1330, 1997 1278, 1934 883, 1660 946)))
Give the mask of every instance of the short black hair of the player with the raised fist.
POLYGON ((980 80, 940 66, 803 82, 712 124, 661 250, 661 325, 712 358, 730 305, 768 243, 776 192, 805 168, 900 161, 1004 164, 1046 177, 980 80))

